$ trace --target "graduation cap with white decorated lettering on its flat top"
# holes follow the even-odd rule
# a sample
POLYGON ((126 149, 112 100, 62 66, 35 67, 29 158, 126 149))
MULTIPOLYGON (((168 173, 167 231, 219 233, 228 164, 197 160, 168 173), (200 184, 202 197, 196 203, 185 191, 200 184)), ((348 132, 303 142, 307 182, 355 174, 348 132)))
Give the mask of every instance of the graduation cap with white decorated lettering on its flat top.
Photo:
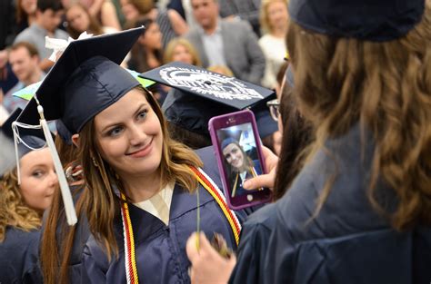
POLYGON ((209 135, 208 121, 212 117, 244 109, 255 113, 261 137, 277 130, 266 108, 266 101, 276 96, 272 90, 179 62, 140 76, 172 87, 162 110, 167 121, 188 131, 209 135))

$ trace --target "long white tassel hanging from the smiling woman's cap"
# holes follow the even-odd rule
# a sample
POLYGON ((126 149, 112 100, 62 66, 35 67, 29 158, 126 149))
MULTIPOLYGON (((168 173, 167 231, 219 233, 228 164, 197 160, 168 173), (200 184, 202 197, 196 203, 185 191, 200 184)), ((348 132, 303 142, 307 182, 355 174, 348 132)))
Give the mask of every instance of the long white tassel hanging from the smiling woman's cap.
POLYGON ((58 152, 55 149, 55 144, 53 141, 53 137, 51 136, 51 132, 49 131, 48 123, 45 121, 44 108, 42 107, 42 105, 39 104, 37 106, 37 112, 41 117, 40 125, 44 130, 46 143, 48 144, 49 151, 53 156, 54 167, 57 173, 58 182, 60 183, 63 203, 65 205, 65 217, 69 226, 73 226, 77 222, 76 211, 74 201, 72 199, 72 194, 70 193, 69 185, 67 183, 67 180, 65 179, 65 171, 63 171, 63 165, 61 164, 60 158, 58 157, 58 152))

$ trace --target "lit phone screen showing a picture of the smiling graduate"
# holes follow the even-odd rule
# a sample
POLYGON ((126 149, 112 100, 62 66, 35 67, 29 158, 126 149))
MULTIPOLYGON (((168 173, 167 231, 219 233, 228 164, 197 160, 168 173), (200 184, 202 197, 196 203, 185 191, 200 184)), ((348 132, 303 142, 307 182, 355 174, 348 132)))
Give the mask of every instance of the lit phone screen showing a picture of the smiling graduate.
POLYGON ((254 191, 243 188, 244 181, 262 174, 256 150, 256 137, 252 124, 246 122, 217 130, 217 140, 223 154, 223 165, 227 174, 227 187, 231 198, 254 191))

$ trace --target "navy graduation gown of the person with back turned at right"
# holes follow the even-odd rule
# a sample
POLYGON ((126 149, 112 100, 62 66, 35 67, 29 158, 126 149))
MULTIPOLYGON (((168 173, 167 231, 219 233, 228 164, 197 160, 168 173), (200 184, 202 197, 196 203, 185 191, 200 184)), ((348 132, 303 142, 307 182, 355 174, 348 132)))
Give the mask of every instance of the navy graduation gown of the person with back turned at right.
MULTIPOLYGON (((262 243, 255 241, 256 255, 250 257, 258 262, 259 283, 413 284, 431 279, 431 269, 425 265, 431 262, 431 228, 398 233, 372 208, 366 189, 374 145, 370 137, 363 141, 364 147, 357 125, 344 137, 327 141, 331 154, 318 152, 267 212, 271 228, 265 238, 260 235, 264 230, 249 230, 255 232, 249 239, 266 240, 266 250, 259 249, 262 243), (316 199, 335 172, 332 191, 312 219, 316 199)), ((376 189, 378 201, 389 211, 393 209, 394 192, 383 181, 377 182, 376 189)), ((255 226, 262 228, 261 223, 255 222, 255 226)), ((247 222, 245 227, 248 225, 254 224, 247 222)), ((242 238, 241 242, 246 235, 242 238)), ((243 252, 253 254, 240 250, 239 261, 243 252)), ((241 265, 235 269, 231 283, 248 283, 243 271, 241 265)))

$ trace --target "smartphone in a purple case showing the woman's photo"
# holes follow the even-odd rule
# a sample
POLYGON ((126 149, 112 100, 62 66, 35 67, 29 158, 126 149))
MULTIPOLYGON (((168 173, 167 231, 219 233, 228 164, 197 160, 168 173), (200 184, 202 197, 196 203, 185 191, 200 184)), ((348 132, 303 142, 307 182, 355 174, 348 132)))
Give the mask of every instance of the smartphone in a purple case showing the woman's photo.
POLYGON ((255 115, 251 111, 213 117, 208 130, 229 208, 238 210, 271 201, 272 191, 260 188, 247 191, 247 179, 266 173, 255 115))

